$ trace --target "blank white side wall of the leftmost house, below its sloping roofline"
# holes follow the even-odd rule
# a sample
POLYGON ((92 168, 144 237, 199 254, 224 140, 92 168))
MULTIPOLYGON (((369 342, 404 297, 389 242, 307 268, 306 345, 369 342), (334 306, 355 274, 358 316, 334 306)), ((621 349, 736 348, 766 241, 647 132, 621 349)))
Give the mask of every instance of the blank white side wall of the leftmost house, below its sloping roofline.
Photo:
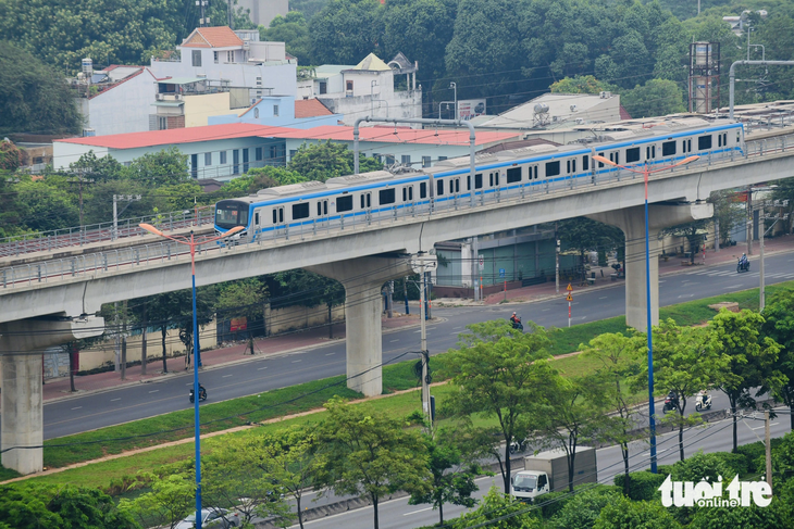
POLYGON ((87 100, 86 127, 97 136, 149 130, 157 85, 148 71, 87 100))

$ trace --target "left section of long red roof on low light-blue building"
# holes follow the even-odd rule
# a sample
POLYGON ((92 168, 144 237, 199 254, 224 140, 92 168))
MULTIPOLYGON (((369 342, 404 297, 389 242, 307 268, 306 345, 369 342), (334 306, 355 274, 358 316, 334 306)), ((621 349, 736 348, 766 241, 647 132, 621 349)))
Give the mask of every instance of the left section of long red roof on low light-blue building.
POLYGON ((108 136, 91 136, 70 138, 64 143, 82 146, 106 147, 108 149, 136 149, 140 147, 176 146, 196 141, 211 141, 219 139, 250 138, 261 133, 272 130, 291 131, 291 128, 263 127, 248 123, 231 123, 226 125, 208 125, 204 127, 173 128, 170 130, 150 130, 148 133, 112 134, 108 136))

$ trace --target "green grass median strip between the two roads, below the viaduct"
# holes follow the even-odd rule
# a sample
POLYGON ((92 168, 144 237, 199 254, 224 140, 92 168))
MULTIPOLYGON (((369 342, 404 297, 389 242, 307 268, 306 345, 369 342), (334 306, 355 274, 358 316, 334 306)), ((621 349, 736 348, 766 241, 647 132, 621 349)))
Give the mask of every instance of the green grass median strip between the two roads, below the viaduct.
MULTIPOLYGON (((768 287, 769 295, 784 286, 794 286, 794 281, 768 287)), ((705 300, 690 301, 686 303, 663 307, 660 310, 660 317, 671 317, 680 325, 697 325, 708 320, 715 312, 708 308, 709 304, 735 301, 742 308, 758 307, 758 290, 747 290, 708 298, 705 300)), ((572 353, 579 350, 580 343, 586 343, 592 338, 604 332, 626 332, 625 318, 623 316, 576 325, 571 328, 558 329, 550 335, 554 355, 572 353)), ((433 356, 431 362, 434 371, 434 381, 442 381, 446 362, 444 353, 433 356)), ((417 388, 418 381, 413 376, 412 366, 417 358, 401 362, 395 365, 384 366, 383 386, 385 393, 417 388)), ((596 365, 586 358, 572 356, 556 361, 556 367, 566 375, 580 375, 592 371, 596 365)), ((226 430, 246 424, 261 423, 268 419, 294 415, 310 410, 320 408, 324 402, 334 395, 348 399, 361 398, 359 393, 349 390, 345 386, 343 376, 332 377, 324 380, 307 382, 294 387, 268 391, 259 395, 234 399, 216 404, 204 404, 201 406, 202 433, 226 430)), ((435 388, 434 394, 443 401, 447 390, 435 388)), ((379 399, 372 405, 382 408, 389 414, 397 416, 408 415, 421 406, 417 392, 393 395, 379 399)), ((274 425, 261 426, 260 428, 282 428, 293 421, 302 423, 312 420, 309 417, 290 418, 278 421, 274 425)), ((110 454, 121 454, 141 448, 156 446, 169 441, 186 439, 193 436, 194 428, 193 408, 174 412, 170 414, 136 420, 125 425, 101 428, 99 430, 78 433, 45 442, 44 457, 45 466, 58 468, 75 463, 89 462, 110 454), (142 432, 150 432, 142 436, 142 432)), ((315 419, 313 419, 315 420, 315 419)), ((252 434, 260 431, 259 428, 237 432, 233 434, 252 434)), ((212 445, 219 442, 216 439, 208 439, 206 449, 212 450, 212 445)), ((222 442, 222 441, 220 441, 222 442)), ((123 457, 114 461, 91 464, 87 467, 66 470, 50 476, 30 478, 28 482, 51 482, 51 483, 85 483, 86 486, 106 488, 112 479, 121 479, 123 476, 134 475, 139 470, 150 470, 165 463, 193 457, 193 445, 170 446, 157 451, 137 454, 133 457, 123 457), (90 484, 89 484, 90 483, 90 484)), ((16 474, 12 470, 0 467, 0 479, 10 479, 16 474)))

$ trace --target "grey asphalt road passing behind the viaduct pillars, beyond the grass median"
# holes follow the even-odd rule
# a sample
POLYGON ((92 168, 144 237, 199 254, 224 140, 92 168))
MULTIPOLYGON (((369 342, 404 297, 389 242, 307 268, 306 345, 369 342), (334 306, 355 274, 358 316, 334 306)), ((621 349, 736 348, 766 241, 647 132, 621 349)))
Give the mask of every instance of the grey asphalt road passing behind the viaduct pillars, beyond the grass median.
MULTIPOLYGON (((794 279, 794 253, 767 257, 767 285, 794 279)), ((757 260, 753 261, 757 267, 757 260)), ((660 305, 707 298, 723 292, 758 286, 758 270, 736 274, 734 264, 697 267, 680 274, 662 276, 659 286, 660 305)), ((624 313, 624 284, 615 287, 574 292, 573 324, 593 322, 624 313)), ((568 325, 568 303, 563 297, 551 301, 521 305, 468 306, 434 308, 433 315, 443 320, 427 326, 427 348, 432 354, 452 348, 457 336, 469 324, 507 318, 512 311, 523 320, 543 326, 568 325)), ((383 336, 385 362, 406 351, 419 350, 419 329, 409 328, 383 336)), ((412 358, 409 355, 401 360, 412 358)), ((285 355, 258 357, 250 363, 222 366, 202 373, 209 403, 251 395, 301 382, 342 375, 346 370, 345 343, 332 343, 285 355)), ((158 382, 124 387, 46 403, 44 407, 45 439, 52 439, 106 426, 151 417, 190 406, 187 394, 193 375, 168 378, 158 382)), ((694 403, 693 403, 694 406, 694 403)), ((724 407, 715 395, 715 407, 724 407)))

